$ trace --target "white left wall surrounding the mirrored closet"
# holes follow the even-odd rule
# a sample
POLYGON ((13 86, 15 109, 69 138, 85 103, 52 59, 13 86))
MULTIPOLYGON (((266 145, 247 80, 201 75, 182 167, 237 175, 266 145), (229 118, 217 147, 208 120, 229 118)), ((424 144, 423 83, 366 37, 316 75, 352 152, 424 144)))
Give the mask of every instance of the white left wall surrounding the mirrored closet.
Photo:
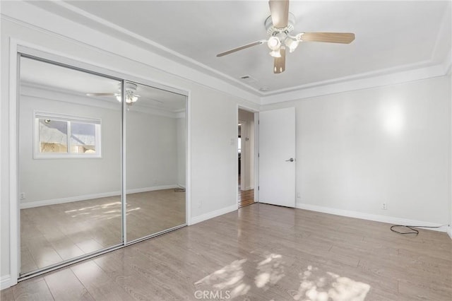
POLYGON ((15 155, 10 153, 9 100, 15 103, 16 91, 10 90, 10 39, 64 54, 88 64, 107 69, 112 74, 122 73, 131 81, 161 83, 186 90, 189 93, 189 161, 191 173, 187 178, 191 200, 191 223, 211 218, 237 208, 237 105, 258 110, 256 98, 245 91, 211 78, 175 61, 170 61, 148 50, 93 31, 39 8, 18 1, 1 1, 1 261, 0 280, 5 287, 14 283, 16 267, 10 266, 10 204, 15 203, 15 181, 10 177, 15 170, 15 155), (10 16, 5 18, 4 16, 10 16), (11 20, 15 18, 16 20, 11 20), (26 21, 27 24, 22 23, 26 21), (39 28, 36 28, 38 26, 39 28), (232 95, 231 93, 234 93, 232 95), (10 188, 11 194, 10 194, 10 188), (12 279, 12 280, 11 280, 12 279), (12 282, 11 282, 12 281, 12 282))

